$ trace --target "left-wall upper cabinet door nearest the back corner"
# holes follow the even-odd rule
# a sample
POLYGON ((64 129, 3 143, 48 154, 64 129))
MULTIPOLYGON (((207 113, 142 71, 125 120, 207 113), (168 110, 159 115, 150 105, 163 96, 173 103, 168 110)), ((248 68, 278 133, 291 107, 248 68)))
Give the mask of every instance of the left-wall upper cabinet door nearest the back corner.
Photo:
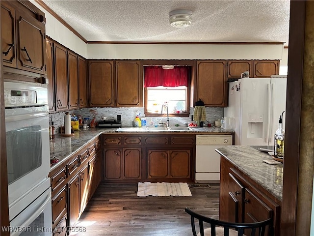
POLYGON ((78 95, 79 108, 87 107, 86 60, 78 57, 78 95))

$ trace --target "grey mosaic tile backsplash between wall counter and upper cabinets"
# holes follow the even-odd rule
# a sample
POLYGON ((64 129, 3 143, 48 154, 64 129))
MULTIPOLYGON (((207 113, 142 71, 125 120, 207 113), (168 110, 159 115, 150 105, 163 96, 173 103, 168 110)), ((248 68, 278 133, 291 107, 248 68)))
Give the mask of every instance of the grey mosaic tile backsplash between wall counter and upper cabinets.
MULTIPOLYGON (((210 123, 213 123, 214 120, 220 119, 223 117, 223 108, 221 107, 206 107, 206 118, 210 123)), ((66 112, 57 112, 49 114, 49 117, 53 121, 55 127, 55 133, 59 133, 59 128, 64 123, 64 115, 66 112)), ((69 111, 70 114, 75 114, 77 116, 83 116, 93 118, 96 116, 96 120, 101 120, 102 116, 107 117, 107 119, 117 119, 118 115, 121 115, 122 126, 128 127, 132 126, 132 121, 134 120, 136 114, 144 117, 144 107, 118 107, 118 108, 104 108, 104 107, 93 107, 93 108, 82 108, 78 110, 69 111)), ((186 122, 191 121, 191 116, 194 113, 194 108, 190 107, 189 117, 170 117, 169 125, 174 126, 179 124, 183 126, 186 122)), ((166 115, 160 115, 160 117, 147 117, 147 125, 152 119, 154 124, 166 121, 166 115)))

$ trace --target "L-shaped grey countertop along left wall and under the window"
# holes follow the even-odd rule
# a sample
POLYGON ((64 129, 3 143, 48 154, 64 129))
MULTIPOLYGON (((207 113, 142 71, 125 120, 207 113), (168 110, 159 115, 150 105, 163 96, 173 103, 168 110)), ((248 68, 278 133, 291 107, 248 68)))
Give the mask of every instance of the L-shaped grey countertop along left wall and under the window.
POLYGON ((193 131, 184 130, 167 130, 163 132, 148 131, 145 127, 124 127, 120 131, 117 128, 87 128, 80 129, 74 132, 74 136, 64 137, 56 134, 54 139, 50 141, 50 158, 56 157, 59 161, 51 166, 51 171, 64 162, 68 157, 73 155, 76 151, 84 145, 97 138, 102 133, 233 133, 233 130, 224 130, 217 127, 197 127, 192 128, 193 131))

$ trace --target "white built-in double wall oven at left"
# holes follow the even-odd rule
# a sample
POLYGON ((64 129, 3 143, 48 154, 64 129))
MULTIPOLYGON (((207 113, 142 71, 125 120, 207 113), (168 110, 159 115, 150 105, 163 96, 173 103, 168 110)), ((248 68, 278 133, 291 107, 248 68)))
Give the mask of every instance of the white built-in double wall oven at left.
POLYGON ((52 235, 48 90, 4 82, 11 235, 52 235))

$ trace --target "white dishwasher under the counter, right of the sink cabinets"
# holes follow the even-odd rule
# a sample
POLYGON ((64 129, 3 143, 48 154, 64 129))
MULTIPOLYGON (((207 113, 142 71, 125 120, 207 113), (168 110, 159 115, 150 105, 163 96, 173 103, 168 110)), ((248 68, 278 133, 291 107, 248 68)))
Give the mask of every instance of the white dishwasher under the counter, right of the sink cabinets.
POLYGON ((220 180, 220 155, 215 151, 232 145, 232 135, 196 135, 195 182, 220 180))

